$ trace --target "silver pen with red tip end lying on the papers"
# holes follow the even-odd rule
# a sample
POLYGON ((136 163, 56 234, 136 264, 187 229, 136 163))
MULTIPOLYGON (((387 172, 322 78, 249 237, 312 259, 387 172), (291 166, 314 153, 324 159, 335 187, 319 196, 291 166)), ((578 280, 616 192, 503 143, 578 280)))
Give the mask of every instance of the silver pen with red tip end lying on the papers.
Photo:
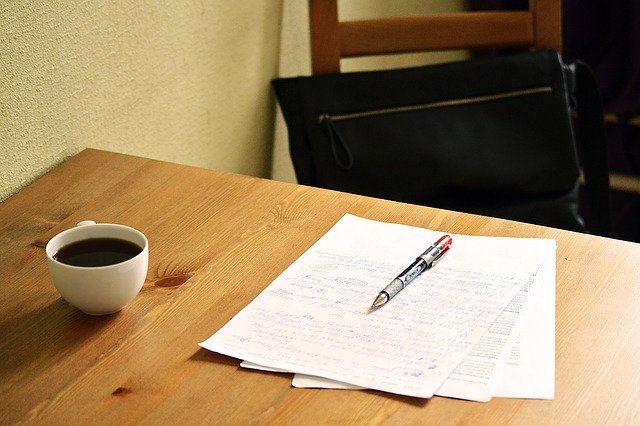
POLYGON ((409 265, 407 269, 402 271, 400 275, 395 277, 393 281, 389 283, 373 301, 372 308, 377 308, 384 305, 393 297, 400 293, 411 281, 413 281, 418 275, 429 269, 437 262, 451 247, 453 240, 449 235, 444 235, 433 243, 428 249, 425 250, 416 260, 409 265))

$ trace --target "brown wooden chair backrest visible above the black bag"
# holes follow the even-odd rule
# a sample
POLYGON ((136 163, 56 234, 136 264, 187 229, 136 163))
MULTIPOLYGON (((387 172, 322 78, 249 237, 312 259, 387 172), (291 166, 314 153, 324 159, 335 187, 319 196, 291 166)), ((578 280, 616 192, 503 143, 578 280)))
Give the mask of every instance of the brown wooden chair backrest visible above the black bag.
POLYGON ((339 21, 337 0, 309 0, 314 75, 340 72, 340 58, 433 50, 531 48, 562 51, 561 0, 529 10, 339 21))

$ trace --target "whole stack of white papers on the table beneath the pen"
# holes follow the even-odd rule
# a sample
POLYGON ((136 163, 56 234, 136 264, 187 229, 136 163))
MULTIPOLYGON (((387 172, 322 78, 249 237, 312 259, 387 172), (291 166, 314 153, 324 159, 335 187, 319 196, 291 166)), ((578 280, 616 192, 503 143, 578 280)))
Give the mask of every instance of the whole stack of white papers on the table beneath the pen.
POLYGON ((554 240, 452 235, 389 303, 373 299, 442 234, 343 217, 200 345, 299 387, 488 401, 554 394, 554 240))

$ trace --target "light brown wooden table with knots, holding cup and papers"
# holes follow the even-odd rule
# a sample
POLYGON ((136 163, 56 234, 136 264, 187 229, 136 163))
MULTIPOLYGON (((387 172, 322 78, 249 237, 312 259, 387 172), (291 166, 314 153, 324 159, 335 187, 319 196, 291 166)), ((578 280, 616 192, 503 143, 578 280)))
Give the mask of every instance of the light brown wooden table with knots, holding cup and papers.
POLYGON ((0 205, 0 423, 640 423, 640 245, 86 150, 0 205), (473 403, 307 390, 198 347, 344 213, 555 238, 556 398, 473 403), (81 220, 150 241, 141 293, 91 317, 49 278, 81 220))

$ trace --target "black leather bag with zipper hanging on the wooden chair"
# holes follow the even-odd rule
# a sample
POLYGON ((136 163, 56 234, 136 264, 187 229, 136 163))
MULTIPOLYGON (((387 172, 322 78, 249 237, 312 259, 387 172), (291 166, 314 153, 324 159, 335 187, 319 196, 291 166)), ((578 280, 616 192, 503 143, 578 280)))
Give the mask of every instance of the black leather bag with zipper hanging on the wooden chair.
POLYGON ((582 67, 535 52, 273 85, 301 184, 584 231, 572 106, 591 78, 585 181, 606 234, 602 107, 582 67))

